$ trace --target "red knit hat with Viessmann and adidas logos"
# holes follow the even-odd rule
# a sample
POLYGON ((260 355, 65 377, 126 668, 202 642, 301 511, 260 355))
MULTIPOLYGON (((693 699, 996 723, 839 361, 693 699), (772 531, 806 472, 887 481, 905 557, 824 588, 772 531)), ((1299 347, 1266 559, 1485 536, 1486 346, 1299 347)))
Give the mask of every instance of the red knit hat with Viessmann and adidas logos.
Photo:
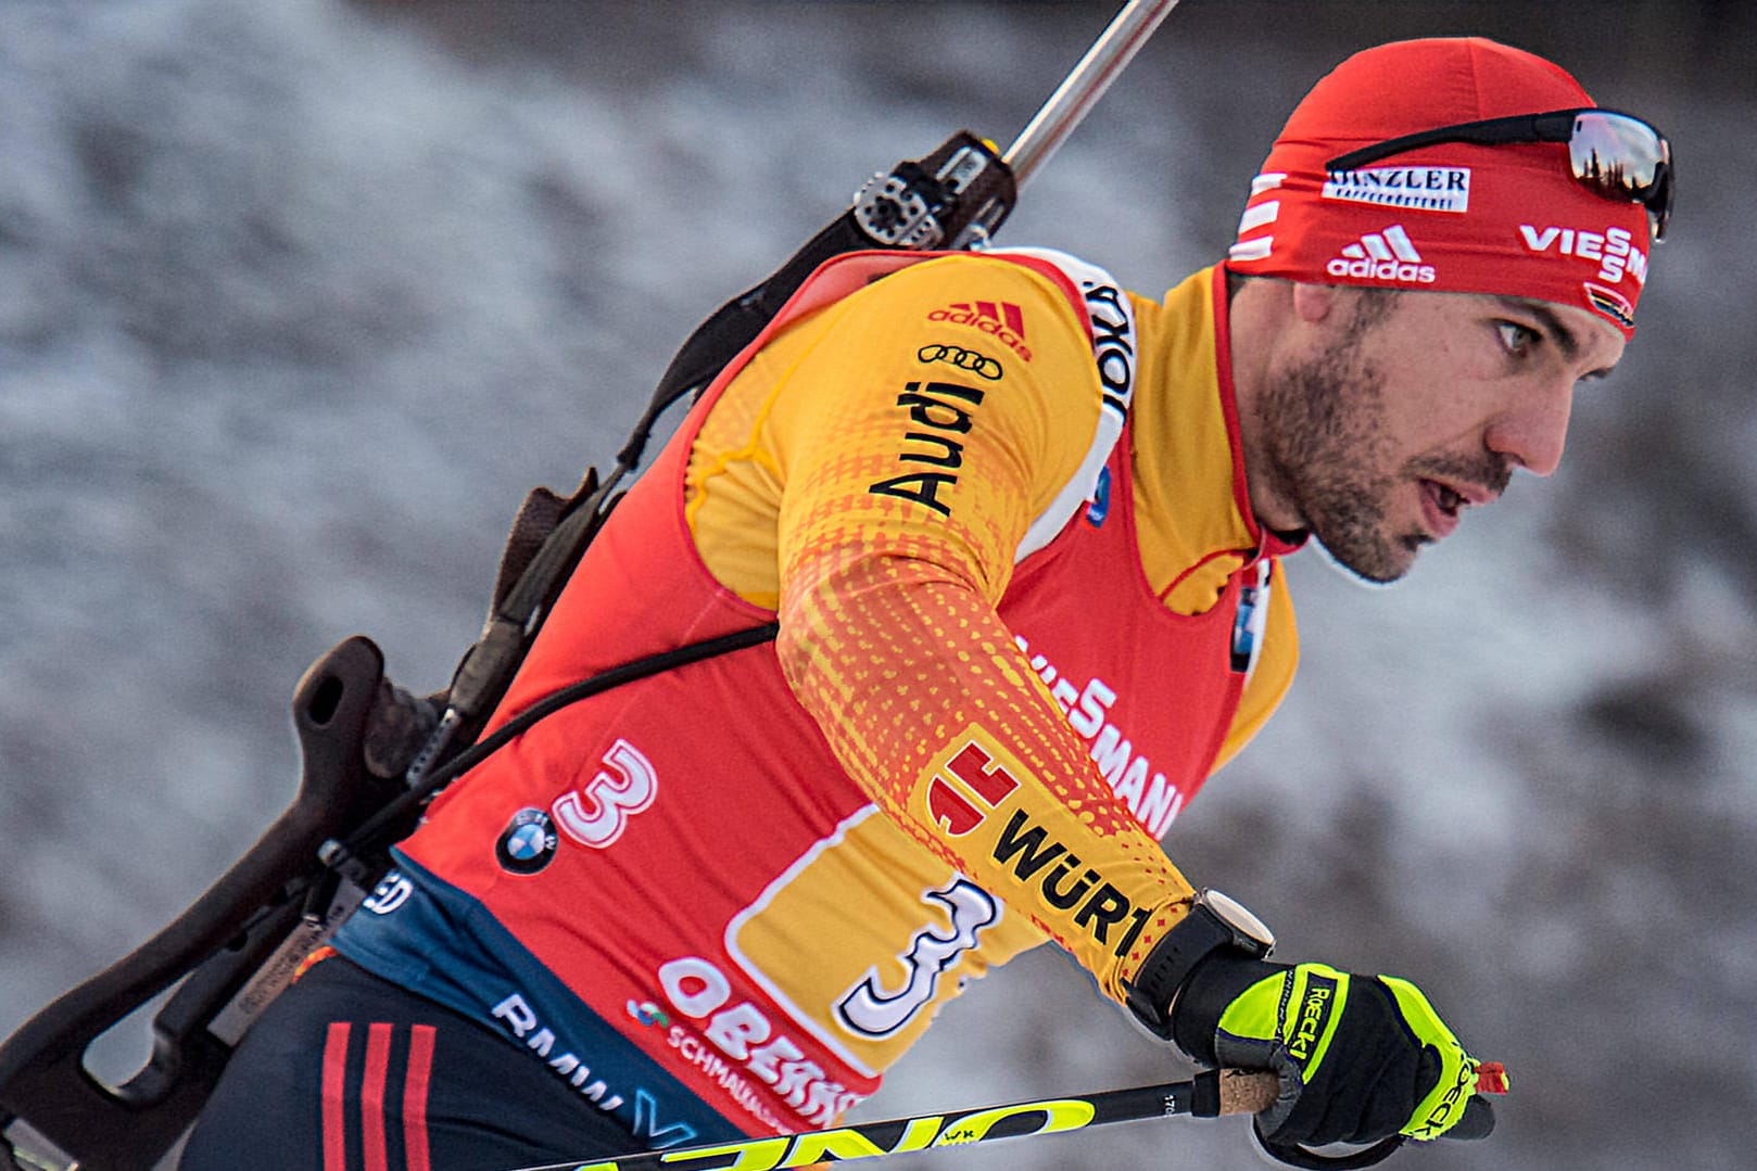
POLYGON ((1400 40, 1321 79, 1281 130, 1230 267, 1316 284, 1530 297, 1634 334, 1648 218, 1574 181, 1567 146, 1441 144, 1332 176, 1356 147, 1453 123, 1588 107, 1550 61, 1481 37, 1400 40))

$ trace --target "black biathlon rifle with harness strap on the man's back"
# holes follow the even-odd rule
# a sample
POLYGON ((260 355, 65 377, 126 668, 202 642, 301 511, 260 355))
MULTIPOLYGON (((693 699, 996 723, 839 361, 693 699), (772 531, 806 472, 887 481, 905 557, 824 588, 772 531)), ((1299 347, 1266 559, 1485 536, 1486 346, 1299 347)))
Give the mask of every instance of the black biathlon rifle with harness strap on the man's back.
POLYGON ((1019 186, 1047 162, 1177 0, 1128 0, 1005 154, 958 132, 873 176, 852 205, 770 277, 726 302, 671 360, 627 442, 568 497, 534 488, 503 553, 488 618, 450 686, 416 697, 385 676, 365 636, 325 651, 293 692, 300 779, 292 804, 188 909, 0 1043, 0 1159, 7 1171, 153 1167, 200 1113, 225 1064, 299 962, 365 899, 388 846, 425 804, 555 708, 773 637, 773 625, 624 664, 564 688, 487 739, 478 734, 566 585, 622 499, 659 418, 699 395, 824 262, 859 249, 982 248, 1019 186), (156 1009, 153 1001, 163 999, 156 1009), (121 1085, 86 1050, 151 1011, 146 1066, 121 1085))

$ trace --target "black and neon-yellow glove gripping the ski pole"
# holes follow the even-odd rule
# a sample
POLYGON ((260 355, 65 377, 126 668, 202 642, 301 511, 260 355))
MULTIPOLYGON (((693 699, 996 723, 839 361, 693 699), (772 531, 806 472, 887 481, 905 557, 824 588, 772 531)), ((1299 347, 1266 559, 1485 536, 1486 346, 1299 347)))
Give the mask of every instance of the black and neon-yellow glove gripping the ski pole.
POLYGON ((1407 980, 1214 953, 1184 981, 1170 1024, 1200 1062, 1281 1074, 1281 1101, 1258 1117, 1269 1143, 1493 1129, 1488 1103, 1472 1097, 1478 1062, 1407 980))

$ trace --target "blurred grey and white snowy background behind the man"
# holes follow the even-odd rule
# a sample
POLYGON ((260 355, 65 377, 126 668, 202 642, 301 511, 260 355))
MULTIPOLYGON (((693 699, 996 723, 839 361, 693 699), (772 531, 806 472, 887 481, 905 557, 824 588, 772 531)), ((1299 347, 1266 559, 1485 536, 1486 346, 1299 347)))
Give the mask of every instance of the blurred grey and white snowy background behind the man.
MULTIPOLYGON (((367 632, 439 686, 524 490, 870 172, 1009 140, 1112 7, 0 0, 0 1034, 272 820, 313 657, 367 632)), ((1458 32, 1671 133, 1641 335, 1564 471, 1402 586, 1293 560, 1302 678, 1168 848, 1508 1062, 1492 1143, 1393 1166, 1750 1166, 1750 9, 1186 0, 1001 239, 1156 295, 1318 75, 1458 32)), ((863 1115, 1179 1071, 1035 953, 863 1115)), ((915 1166, 1260 1164, 1167 1122, 915 1166)))

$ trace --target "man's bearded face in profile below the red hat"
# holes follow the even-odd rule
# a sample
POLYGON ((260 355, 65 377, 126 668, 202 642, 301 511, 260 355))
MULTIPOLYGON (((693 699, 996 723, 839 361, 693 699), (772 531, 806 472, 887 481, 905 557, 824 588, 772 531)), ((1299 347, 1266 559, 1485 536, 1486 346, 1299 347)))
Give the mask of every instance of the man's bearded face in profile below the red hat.
MULTIPOLYGON (((1623 337, 1585 309, 1478 293, 1304 288, 1305 344, 1265 384, 1262 520, 1395 581, 1458 514, 1562 458, 1576 383, 1623 337)), ((1254 493, 1253 493, 1254 499, 1254 493)))

